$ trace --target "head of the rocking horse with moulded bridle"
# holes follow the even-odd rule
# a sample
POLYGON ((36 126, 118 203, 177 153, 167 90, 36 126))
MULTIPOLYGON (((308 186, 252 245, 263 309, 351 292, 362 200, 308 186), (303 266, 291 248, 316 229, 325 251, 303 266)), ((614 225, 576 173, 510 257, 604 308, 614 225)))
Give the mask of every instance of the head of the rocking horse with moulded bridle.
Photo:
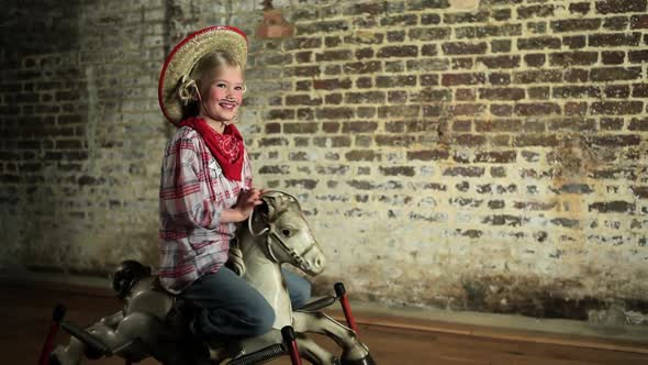
POLYGON ((256 208, 256 220, 265 225, 260 232, 252 229, 254 236, 267 234, 265 252, 278 264, 289 263, 308 275, 317 275, 324 269, 324 252, 313 236, 299 201, 283 191, 267 191, 264 203, 256 208))

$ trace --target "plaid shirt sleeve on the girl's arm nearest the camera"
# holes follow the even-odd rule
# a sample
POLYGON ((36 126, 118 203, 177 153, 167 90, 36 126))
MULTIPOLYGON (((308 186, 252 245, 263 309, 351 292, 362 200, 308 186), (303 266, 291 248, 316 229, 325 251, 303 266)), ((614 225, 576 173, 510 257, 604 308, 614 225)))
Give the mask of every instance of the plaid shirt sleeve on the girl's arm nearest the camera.
POLYGON ((206 199, 202 191, 205 172, 201 168, 197 146, 191 139, 171 142, 163 163, 160 212, 176 226, 215 229, 221 221, 217 201, 206 199))

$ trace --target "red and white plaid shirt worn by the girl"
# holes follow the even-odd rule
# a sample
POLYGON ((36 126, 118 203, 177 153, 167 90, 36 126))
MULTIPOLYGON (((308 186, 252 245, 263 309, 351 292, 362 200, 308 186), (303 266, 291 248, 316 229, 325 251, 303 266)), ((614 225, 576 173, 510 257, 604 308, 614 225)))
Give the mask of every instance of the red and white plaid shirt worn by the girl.
POLYGON ((223 208, 236 204, 242 189, 252 188, 245 153, 242 181, 228 180, 194 130, 178 129, 169 141, 159 190, 159 279, 179 294, 204 274, 227 262, 235 223, 221 223, 223 208))

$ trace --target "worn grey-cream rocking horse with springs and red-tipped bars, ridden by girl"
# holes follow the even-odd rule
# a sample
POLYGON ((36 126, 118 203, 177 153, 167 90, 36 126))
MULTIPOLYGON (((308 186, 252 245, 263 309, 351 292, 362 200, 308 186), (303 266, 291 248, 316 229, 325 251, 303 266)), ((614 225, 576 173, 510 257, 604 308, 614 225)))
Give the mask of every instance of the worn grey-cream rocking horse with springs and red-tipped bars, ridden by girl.
POLYGON ((269 191, 261 200, 264 203, 255 209, 247 224, 237 230, 235 241, 242 255, 230 265, 275 309, 271 331, 256 338, 210 343, 209 356, 201 355, 195 345, 200 341, 189 331, 191 303, 165 291, 157 277, 150 275, 150 268, 126 261, 113 277, 113 288, 124 300, 123 309, 86 329, 63 322, 63 309, 56 309, 53 328, 60 324, 71 334, 70 342, 49 353, 55 333, 51 331, 40 365, 76 365, 83 355, 88 358, 118 355, 126 364, 153 356, 164 365, 243 365, 260 364, 281 355, 290 355, 293 364, 301 364, 300 358, 316 365, 375 364, 368 347, 354 331, 356 325, 342 284, 336 285, 336 297, 324 297, 297 310, 291 308, 281 264, 317 275, 324 269, 324 254, 294 197, 269 191), (348 327, 320 311, 337 299, 343 303, 348 327), (309 332, 333 339, 342 347, 340 356, 309 339, 309 332))

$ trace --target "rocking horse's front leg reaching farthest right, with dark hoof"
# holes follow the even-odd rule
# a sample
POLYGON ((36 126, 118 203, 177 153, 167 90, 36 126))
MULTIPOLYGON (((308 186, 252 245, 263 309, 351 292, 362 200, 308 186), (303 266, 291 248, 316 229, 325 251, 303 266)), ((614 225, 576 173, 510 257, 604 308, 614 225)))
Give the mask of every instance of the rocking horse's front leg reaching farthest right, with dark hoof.
POLYGON ((342 349, 342 364, 373 364, 367 346, 358 341, 356 332, 340 324, 326 313, 293 312, 295 332, 315 332, 325 334, 342 349))

